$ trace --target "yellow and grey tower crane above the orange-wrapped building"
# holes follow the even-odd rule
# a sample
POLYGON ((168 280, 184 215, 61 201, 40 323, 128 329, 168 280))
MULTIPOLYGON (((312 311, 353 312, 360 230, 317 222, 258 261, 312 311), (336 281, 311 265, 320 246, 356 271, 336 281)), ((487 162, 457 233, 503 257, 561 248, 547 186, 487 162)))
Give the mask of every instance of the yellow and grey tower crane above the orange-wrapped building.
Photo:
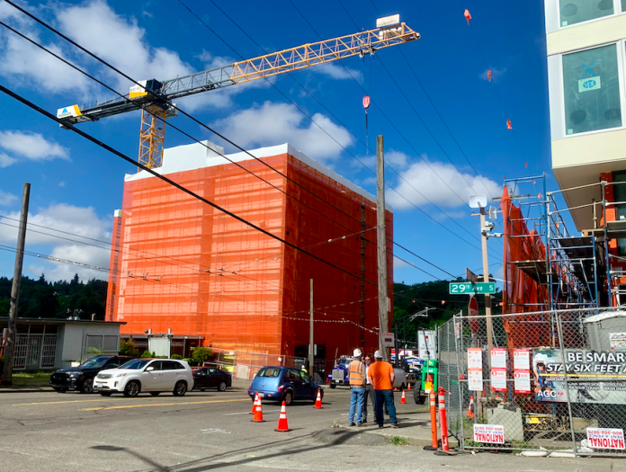
POLYGON ((128 95, 104 102, 88 102, 60 108, 57 118, 61 127, 97 121, 108 116, 142 110, 139 137, 139 164, 160 167, 165 147, 165 120, 177 115, 173 100, 230 85, 317 66, 353 56, 373 55, 377 49, 389 48, 412 40, 420 34, 400 22, 400 15, 379 18, 376 28, 332 40, 304 44, 297 48, 246 59, 229 66, 217 67, 189 76, 169 80, 143 80, 130 87, 128 95))

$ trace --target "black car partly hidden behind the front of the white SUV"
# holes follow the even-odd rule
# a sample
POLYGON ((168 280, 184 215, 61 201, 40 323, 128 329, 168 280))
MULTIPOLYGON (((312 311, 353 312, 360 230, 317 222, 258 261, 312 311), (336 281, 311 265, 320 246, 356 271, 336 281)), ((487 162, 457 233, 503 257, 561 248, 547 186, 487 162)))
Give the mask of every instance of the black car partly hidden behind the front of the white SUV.
POLYGON ((78 367, 58 369, 50 376, 50 387, 60 393, 78 390, 80 393, 94 393, 94 377, 105 369, 115 369, 132 358, 127 356, 96 356, 78 367))

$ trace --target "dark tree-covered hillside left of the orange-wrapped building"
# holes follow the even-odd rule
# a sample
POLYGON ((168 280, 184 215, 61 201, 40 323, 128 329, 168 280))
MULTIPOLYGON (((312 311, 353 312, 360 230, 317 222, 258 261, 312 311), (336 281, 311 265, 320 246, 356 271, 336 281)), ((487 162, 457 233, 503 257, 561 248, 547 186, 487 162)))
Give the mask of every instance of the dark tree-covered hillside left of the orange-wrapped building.
MULTIPOLYGON (((9 315, 12 280, 0 277, 0 316, 9 315)), ((49 282, 41 274, 39 280, 22 277, 20 306, 18 313, 24 318, 67 318, 80 316, 96 320, 104 319, 106 307, 107 281, 79 281, 78 275, 72 281, 49 282)))

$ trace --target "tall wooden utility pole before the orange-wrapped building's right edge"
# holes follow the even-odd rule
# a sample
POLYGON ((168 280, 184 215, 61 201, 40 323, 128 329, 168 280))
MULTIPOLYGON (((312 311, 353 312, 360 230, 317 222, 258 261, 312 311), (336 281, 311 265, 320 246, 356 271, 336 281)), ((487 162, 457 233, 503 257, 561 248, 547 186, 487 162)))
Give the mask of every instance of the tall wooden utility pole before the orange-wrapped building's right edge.
POLYGON ((385 227, 385 155, 382 135, 376 137, 376 240, 379 272, 379 349, 389 362, 389 350, 382 345, 382 334, 389 329, 387 307, 387 231, 385 227))

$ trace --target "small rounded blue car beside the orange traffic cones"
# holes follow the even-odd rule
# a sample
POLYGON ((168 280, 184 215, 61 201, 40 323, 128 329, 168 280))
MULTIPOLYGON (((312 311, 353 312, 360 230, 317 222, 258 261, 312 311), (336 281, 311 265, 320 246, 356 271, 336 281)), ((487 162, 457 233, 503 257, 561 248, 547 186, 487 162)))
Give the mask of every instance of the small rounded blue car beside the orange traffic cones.
POLYGON ((293 400, 315 402, 317 391, 324 397, 324 388, 320 387, 300 369, 282 366, 267 366, 255 375, 248 395, 253 400, 258 393, 264 400, 274 400, 285 405, 293 400))

